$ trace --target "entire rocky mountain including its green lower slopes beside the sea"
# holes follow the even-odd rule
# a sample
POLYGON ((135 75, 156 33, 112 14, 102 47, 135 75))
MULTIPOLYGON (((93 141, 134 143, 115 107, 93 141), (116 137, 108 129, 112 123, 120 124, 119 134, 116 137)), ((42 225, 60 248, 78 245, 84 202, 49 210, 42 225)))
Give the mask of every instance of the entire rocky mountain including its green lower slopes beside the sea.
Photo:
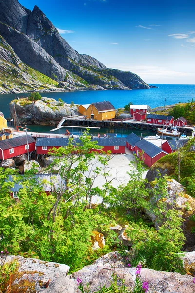
POLYGON ((137 74, 79 54, 39 7, 0 0, 0 93, 149 88, 137 74))

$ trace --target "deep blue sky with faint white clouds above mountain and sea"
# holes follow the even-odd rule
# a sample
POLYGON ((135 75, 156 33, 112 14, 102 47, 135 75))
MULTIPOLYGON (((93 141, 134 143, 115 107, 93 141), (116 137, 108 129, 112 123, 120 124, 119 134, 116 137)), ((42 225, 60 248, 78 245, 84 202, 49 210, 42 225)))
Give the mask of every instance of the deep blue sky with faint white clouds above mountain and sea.
POLYGON ((79 53, 147 83, 195 84, 195 1, 19 0, 79 53))

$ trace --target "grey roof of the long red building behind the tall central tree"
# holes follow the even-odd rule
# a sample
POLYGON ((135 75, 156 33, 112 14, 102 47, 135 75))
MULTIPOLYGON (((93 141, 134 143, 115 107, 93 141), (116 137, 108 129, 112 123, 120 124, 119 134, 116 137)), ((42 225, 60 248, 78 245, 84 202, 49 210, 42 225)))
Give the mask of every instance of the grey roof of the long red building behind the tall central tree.
MULTIPOLYGON (((92 138, 93 141, 97 141, 97 146, 125 146, 125 137, 100 137, 92 138)), ((68 146, 68 137, 43 137, 37 138, 36 146, 68 146)), ((82 146, 82 141, 79 138, 74 138, 73 144, 79 143, 82 146)))

